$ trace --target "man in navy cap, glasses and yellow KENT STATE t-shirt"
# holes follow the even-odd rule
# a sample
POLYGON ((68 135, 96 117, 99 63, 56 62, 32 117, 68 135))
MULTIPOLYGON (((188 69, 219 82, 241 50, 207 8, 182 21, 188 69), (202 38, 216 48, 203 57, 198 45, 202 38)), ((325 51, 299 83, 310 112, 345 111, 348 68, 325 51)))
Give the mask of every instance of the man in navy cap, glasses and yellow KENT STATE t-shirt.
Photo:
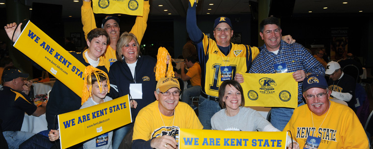
POLYGON ((290 130, 299 147, 314 139, 319 149, 368 149, 359 119, 348 106, 329 101, 331 91, 327 87, 322 75, 308 75, 303 80, 307 104, 294 110, 283 131, 290 130))

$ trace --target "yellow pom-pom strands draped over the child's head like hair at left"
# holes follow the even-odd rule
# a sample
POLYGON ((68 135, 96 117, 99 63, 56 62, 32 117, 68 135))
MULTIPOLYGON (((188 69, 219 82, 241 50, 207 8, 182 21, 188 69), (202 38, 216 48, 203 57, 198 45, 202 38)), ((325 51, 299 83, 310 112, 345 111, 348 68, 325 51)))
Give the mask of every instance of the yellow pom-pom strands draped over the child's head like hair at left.
POLYGON ((94 66, 87 66, 84 70, 84 86, 83 86, 83 95, 81 97, 81 105, 85 103, 88 98, 92 97, 92 84, 97 82, 99 84, 99 91, 102 91, 101 83, 102 81, 107 81, 108 85, 108 91, 110 92, 110 83, 109 83, 109 77, 107 76, 106 72, 95 68, 94 66), (89 88, 87 88, 87 85, 89 85, 89 88))

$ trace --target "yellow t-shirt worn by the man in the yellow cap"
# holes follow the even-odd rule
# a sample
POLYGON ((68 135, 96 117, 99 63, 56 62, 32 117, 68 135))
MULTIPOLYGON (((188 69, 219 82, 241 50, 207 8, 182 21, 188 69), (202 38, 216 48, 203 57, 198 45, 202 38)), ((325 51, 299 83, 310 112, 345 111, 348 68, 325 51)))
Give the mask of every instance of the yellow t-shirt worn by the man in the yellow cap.
MULTIPOLYGON (((180 128, 203 128, 194 110, 186 103, 178 103, 175 107, 174 116, 161 114, 158 108, 158 101, 145 106, 136 117, 132 140, 142 139, 148 141, 151 138, 160 137, 166 133, 178 135, 177 133, 180 128)), ((178 142, 178 137, 172 137, 178 142)))

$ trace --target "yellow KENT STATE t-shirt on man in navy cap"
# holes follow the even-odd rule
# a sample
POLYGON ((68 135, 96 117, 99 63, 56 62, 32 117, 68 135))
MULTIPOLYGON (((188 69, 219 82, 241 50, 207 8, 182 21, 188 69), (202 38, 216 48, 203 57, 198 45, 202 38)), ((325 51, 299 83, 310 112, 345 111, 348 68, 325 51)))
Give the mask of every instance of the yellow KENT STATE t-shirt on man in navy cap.
POLYGON ((307 137, 321 138, 319 149, 369 149, 367 135, 355 112, 345 105, 330 101, 329 112, 318 116, 302 105, 283 131, 290 130, 300 148, 307 137))

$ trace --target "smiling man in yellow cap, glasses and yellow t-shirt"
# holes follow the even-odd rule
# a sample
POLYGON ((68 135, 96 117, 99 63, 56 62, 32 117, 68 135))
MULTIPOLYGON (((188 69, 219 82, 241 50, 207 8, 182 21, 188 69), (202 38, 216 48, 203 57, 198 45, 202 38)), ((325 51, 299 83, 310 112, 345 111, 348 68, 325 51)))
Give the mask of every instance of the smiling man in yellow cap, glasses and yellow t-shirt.
POLYGON ((145 106, 137 115, 132 149, 177 149, 180 128, 203 128, 194 110, 179 102, 177 79, 161 78, 154 95, 157 101, 145 106))

